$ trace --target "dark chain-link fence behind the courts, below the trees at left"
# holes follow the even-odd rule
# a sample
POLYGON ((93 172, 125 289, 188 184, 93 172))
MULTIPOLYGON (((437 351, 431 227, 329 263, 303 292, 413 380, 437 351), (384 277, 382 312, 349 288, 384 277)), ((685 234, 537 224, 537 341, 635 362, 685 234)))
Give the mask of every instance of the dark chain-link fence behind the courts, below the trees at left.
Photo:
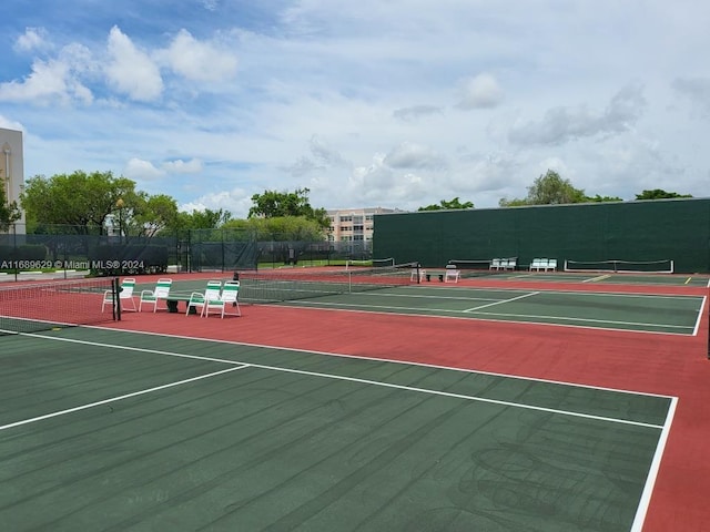
POLYGON ((257 241, 246 229, 192 229, 153 237, 91 234, 85 227, 23 225, 0 233, 0 276, 29 272, 141 275, 234 272, 283 265, 343 264, 372 258, 371 242, 257 241))

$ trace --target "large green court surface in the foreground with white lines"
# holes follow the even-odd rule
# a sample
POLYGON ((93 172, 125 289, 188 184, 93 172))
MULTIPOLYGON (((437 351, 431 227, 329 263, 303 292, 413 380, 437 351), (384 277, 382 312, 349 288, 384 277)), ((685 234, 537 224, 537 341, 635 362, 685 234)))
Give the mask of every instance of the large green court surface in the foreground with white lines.
POLYGON ((0 339, 6 530, 639 530, 676 399, 71 328, 0 339))

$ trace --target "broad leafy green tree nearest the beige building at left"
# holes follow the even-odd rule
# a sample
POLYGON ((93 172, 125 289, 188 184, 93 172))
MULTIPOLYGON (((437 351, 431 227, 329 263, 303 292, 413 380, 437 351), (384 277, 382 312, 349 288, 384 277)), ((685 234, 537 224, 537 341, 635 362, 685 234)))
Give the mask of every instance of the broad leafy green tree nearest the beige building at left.
POLYGON ((37 175, 28 180, 20 201, 28 219, 38 224, 101 234, 109 215, 130 219, 136 204, 134 187, 134 182, 111 172, 37 175))

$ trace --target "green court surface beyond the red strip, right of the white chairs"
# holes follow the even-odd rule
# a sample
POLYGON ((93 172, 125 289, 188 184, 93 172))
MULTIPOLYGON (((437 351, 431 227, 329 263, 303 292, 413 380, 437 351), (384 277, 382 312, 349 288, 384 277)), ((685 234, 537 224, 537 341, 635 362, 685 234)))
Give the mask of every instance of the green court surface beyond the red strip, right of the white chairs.
POLYGON ((702 303, 700 296, 415 285, 285 304, 692 335, 702 303))

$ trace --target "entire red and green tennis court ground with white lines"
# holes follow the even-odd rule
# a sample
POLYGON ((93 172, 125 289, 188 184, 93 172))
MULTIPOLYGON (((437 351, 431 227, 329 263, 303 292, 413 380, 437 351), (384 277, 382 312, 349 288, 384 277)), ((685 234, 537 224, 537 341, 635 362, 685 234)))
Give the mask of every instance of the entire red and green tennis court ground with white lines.
MULTIPOLYGON (((0 297, 0 329, 21 330, 0 335, 0 522, 496 532, 710 519, 706 288, 496 277, 345 293, 302 275, 244 279, 242 316, 224 319, 31 327, 65 301, 105 321, 99 288, 20 293, 52 303, 18 325, 2 316, 17 299, 0 297)), ((206 278, 178 276, 175 291, 206 278)))

